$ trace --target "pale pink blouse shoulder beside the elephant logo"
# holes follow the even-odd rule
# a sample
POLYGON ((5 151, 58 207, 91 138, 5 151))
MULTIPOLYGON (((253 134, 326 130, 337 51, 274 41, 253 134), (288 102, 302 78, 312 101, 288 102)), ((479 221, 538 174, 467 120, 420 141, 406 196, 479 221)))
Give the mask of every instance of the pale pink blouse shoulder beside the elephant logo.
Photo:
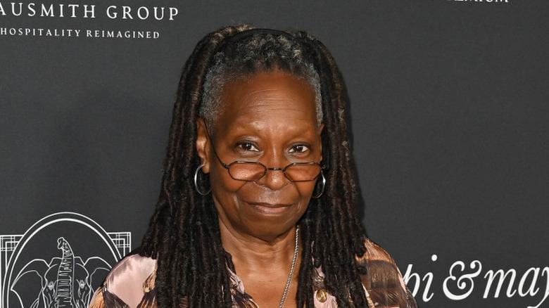
POLYGON ((96 291, 90 307, 108 307, 108 297, 121 306, 137 307, 146 293, 154 288, 156 259, 129 255, 121 259, 108 273, 96 291))

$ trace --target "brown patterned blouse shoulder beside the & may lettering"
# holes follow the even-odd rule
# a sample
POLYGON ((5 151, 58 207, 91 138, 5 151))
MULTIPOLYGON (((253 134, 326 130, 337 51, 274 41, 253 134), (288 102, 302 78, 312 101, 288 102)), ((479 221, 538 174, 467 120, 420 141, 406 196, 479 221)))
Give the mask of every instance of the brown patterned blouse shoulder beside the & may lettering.
POLYGON ((365 239, 364 245, 366 252, 362 257, 357 256, 356 261, 365 269, 360 278, 372 301, 381 307, 416 307, 389 252, 369 238, 365 239))

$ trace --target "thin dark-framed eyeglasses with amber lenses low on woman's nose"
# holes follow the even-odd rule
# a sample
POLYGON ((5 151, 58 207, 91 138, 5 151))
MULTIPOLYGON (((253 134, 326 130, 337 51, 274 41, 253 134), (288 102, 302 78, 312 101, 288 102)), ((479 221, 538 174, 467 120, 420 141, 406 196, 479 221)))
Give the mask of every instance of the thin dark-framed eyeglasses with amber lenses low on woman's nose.
MULTIPOLYGON (((208 132, 208 137, 210 137, 210 132, 207 128, 206 131, 208 132)), ((212 140, 211 137, 210 140, 212 140)), ((261 162, 247 162, 244 160, 236 160, 227 165, 219 158, 213 144, 212 149, 213 154, 219 160, 220 164, 227 169, 232 179, 238 181, 258 181, 258 179, 267 174, 267 170, 280 170, 284 173, 286 179, 293 182, 313 181, 324 169, 318 162, 292 162, 284 168, 267 168, 261 162)))

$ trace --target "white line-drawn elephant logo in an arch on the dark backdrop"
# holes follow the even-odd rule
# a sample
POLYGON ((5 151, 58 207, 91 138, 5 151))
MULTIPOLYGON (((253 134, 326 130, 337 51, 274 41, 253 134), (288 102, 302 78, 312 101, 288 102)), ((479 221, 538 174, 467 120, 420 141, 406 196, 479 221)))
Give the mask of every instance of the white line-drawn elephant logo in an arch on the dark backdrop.
POLYGON ((131 240, 73 212, 44 217, 23 235, 0 235, 0 308, 87 307, 131 240))

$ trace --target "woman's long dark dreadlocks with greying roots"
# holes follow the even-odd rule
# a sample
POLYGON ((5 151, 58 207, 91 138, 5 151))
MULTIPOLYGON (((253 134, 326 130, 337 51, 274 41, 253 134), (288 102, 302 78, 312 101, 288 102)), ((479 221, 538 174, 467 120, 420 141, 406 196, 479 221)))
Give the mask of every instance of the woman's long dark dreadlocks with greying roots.
POLYGON ((355 262, 356 256, 365 254, 365 233, 355 210, 357 186, 347 141, 346 89, 339 69, 327 48, 307 32, 251 34, 232 44, 235 35, 252 28, 235 25, 206 35, 184 65, 160 197, 141 245, 141 255, 158 262, 158 307, 232 307, 227 266, 234 271, 234 265, 221 243, 211 195, 199 195, 193 184, 200 164, 196 120, 215 121, 216 100, 228 77, 276 69, 311 84, 319 101, 317 114, 324 123, 322 163, 327 167, 327 184, 322 197, 310 201, 298 222, 305 249, 297 307, 314 307, 311 273, 315 267, 322 267, 325 286, 339 307, 367 307, 360 281, 366 269, 355 262))

